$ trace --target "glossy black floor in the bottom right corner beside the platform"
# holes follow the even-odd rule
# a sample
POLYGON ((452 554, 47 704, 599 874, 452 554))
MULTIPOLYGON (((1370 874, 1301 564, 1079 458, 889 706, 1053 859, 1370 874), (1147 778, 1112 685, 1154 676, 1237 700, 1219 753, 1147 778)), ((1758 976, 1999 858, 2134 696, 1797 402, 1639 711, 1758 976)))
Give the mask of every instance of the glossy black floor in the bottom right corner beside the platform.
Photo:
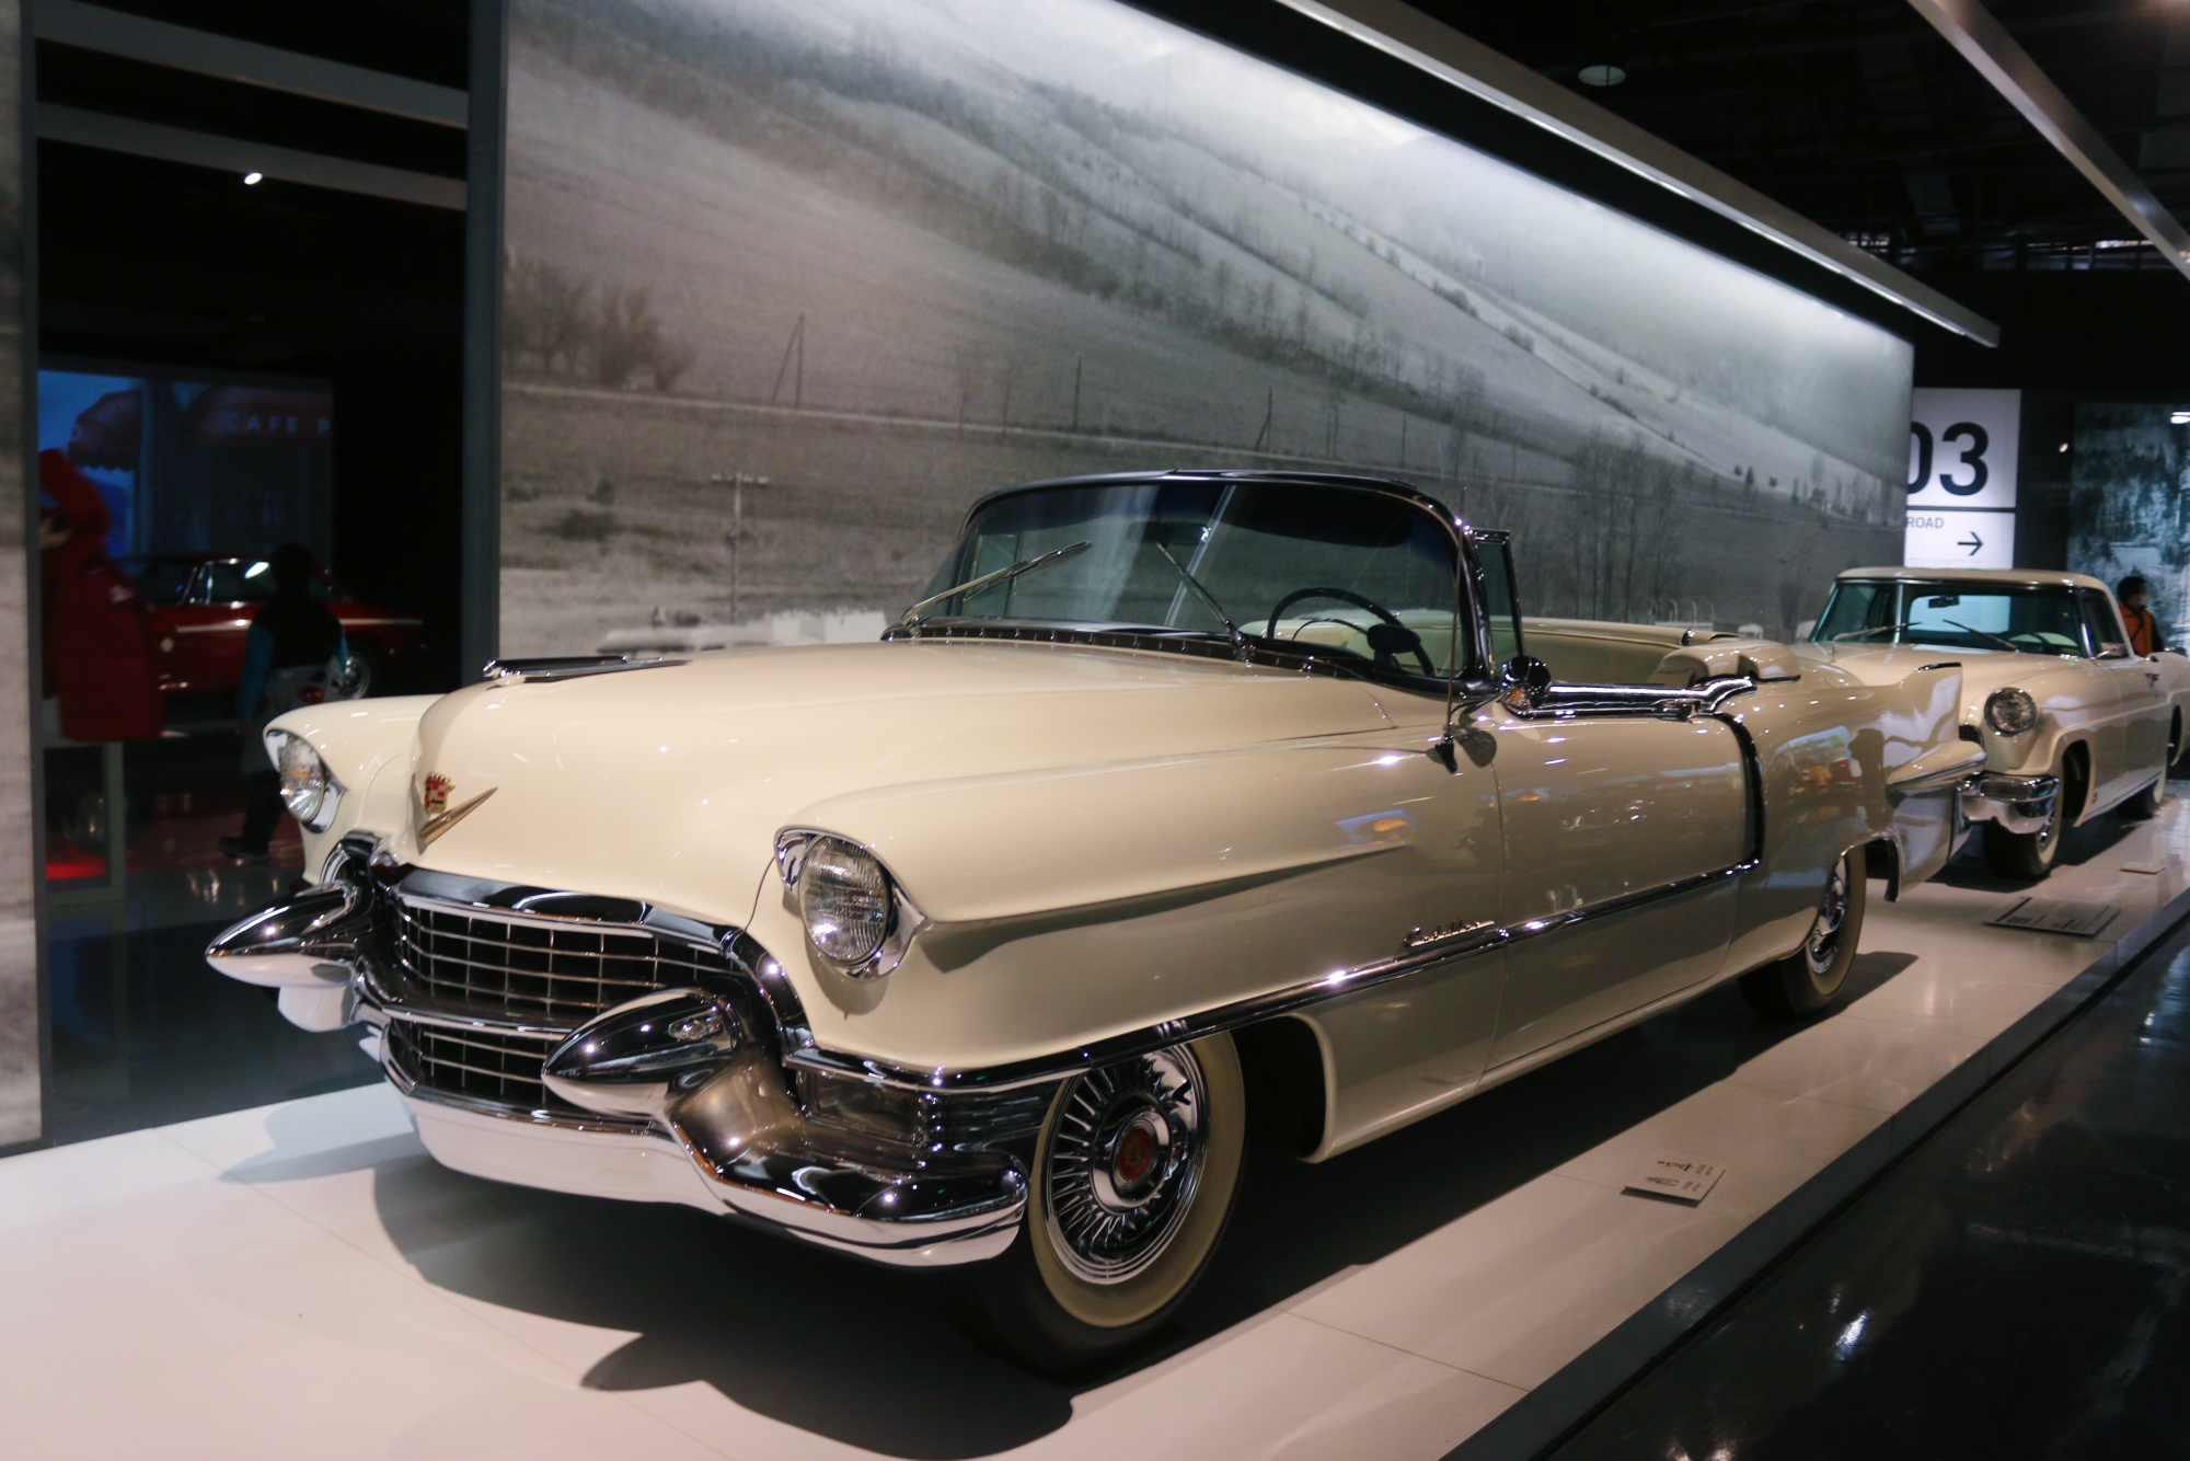
POLYGON ((2190 935, 1553 1454, 2190 1454, 2190 935))

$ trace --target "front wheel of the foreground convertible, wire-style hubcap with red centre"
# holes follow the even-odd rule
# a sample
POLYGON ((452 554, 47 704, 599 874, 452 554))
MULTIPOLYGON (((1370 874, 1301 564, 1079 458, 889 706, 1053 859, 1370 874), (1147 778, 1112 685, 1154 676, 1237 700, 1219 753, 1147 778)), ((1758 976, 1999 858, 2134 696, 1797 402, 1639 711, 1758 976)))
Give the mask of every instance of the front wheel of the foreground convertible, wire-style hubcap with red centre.
POLYGON ((950 1275, 959 1319, 1029 1369, 1073 1373, 1117 1358, 1202 1277, 1244 1150, 1246 1082, 1231 1036, 1075 1075, 1042 1124, 1018 1242, 950 1275))

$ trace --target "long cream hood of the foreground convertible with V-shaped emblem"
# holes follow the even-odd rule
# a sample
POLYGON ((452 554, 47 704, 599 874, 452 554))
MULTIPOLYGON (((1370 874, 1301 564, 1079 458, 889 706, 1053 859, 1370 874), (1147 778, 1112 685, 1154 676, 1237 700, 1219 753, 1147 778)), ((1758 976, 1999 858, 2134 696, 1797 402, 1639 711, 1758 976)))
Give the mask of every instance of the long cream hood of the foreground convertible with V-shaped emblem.
MULTIPOLYGON (((738 922, 775 832, 817 804, 964 778, 1176 767, 1386 725, 1360 681, 1167 653, 992 642, 729 651, 440 699, 418 723, 414 808, 425 778, 442 778, 447 808, 473 810, 425 848, 416 826, 403 828, 396 848, 462 876, 738 922)), ((1038 797, 1018 806, 1023 821, 1005 813, 994 837, 1031 843, 1056 830, 1038 797)))

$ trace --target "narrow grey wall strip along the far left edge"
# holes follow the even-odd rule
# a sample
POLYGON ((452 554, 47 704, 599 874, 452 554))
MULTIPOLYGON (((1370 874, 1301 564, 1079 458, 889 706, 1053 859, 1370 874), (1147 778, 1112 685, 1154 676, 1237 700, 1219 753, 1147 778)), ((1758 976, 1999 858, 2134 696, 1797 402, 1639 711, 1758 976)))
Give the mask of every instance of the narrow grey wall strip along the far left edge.
POLYGON ((24 493, 24 46, 0 0, 0 1150, 42 1135, 37 854, 31 784, 31 508, 24 493))

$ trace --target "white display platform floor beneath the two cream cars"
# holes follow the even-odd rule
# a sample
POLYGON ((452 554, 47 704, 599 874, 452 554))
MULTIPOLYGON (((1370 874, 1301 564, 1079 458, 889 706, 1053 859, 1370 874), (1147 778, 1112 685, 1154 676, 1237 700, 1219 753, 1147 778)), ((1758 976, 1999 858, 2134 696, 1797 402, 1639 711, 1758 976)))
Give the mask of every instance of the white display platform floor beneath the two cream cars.
POLYGON ((1870 905, 1864 992, 1831 1019, 1783 1036, 1728 990, 1472 1102, 1496 1121, 1439 1117, 1299 1187, 1272 1167, 1248 1187, 1272 1216, 1196 1299, 1215 1323, 1080 1391, 966 1347, 922 1275, 442 1172, 383 1089, 15 1157, 9 1454, 1441 1457, 1967 1078, 2183 891, 2186 852, 2179 802, 2072 843, 2035 891, 2118 905, 2096 940, 1986 927, 2019 894, 1958 865, 1870 905), (1660 1154, 1728 1172, 1693 1209, 1623 1194, 1660 1154), (1351 1224, 1408 1185, 1443 1209, 1351 1224))

